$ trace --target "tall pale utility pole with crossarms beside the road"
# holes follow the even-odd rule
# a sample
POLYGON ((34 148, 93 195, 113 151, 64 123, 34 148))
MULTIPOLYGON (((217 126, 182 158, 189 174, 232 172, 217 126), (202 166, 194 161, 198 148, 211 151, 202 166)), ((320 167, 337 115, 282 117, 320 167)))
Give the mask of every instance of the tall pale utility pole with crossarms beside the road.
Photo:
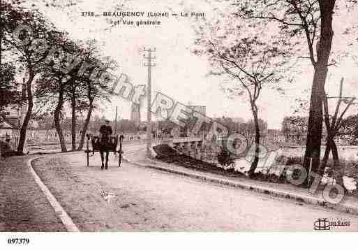
POLYGON ((156 66, 152 64, 151 59, 156 59, 156 57, 151 57, 152 52, 156 52, 156 48, 146 49, 144 52, 147 52, 148 55, 144 55, 144 59, 147 59, 147 64, 144 63, 144 66, 148 68, 148 84, 147 84, 147 157, 151 157, 151 67, 156 66))

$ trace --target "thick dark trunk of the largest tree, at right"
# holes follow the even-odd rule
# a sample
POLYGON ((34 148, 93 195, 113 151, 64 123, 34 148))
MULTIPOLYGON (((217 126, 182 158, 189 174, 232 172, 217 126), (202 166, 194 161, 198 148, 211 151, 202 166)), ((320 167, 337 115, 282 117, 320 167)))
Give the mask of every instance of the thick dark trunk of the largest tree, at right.
POLYGON ((322 140, 322 101, 324 97, 325 82, 328 71, 329 54, 333 38, 332 13, 334 0, 320 0, 321 34, 318 46, 318 59, 315 64, 313 76, 311 104, 308 118, 308 131, 306 138, 306 152, 304 167, 308 171, 310 158, 313 158, 312 171, 317 172, 320 167, 320 151, 322 140))

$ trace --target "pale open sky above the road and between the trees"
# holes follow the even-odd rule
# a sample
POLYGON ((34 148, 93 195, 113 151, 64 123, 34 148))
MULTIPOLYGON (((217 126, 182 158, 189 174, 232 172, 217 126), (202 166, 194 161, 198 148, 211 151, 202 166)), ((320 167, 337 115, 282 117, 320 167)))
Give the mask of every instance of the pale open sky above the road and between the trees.
MULTIPOLYGON (((242 117, 244 120, 252 118, 247 99, 244 96, 229 99, 221 90, 223 78, 207 76, 211 70, 207 58, 199 57, 191 52, 195 40, 193 23, 197 22, 196 17, 158 17, 156 19, 162 22, 158 26, 136 27, 119 24, 110 28, 107 17, 103 17, 103 12, 117 11, 121 3, 126 6, 126 10, 130 11, 144 11, 145 13, 168 11, 179 15, 181 12, 197 12, 204 13, 210 18, 217 15, 218 9, 216 8, 223 8, 228 1, 210 3, 207 0, 93 0, 79 1, 76 6, 67 10, 40 7, 40 11, 43 11, 44 15, 59 29, 68 31, 74 39, 96 38, 103 54, 110 55, 118 62, 120 67, 114 74, 120 76, 121 73, 126 73, 133 85, 146 85, 147 68, 143 65, 145 62, 143 48, 156 48, 154 60, 156 66, 152 69, 153 92, 160 91, 184 104, 190 102, 191 105, 206 106, 209 117, 242 117), (82 11, 93 11, 98 16, 82 17, 82 11)), ((341 33, 347 27, 352 27, 357 22, 356 19, 357 11, 347 12, 343 17, 337 17, 334 23, 336 34, 341 33)), ((119 18, 112 17, 112 20, 119 20, 119 18)), ((126 20, 137 21, 148 20, 148 18, 130 17, 126 20)), ((356 43, 357 40, 350 48, 352 55, 357 52, 356 43)), ((339 37, 335 38, 334 49, 344 51, 345 48, 346 41, 339 37)), ((300 67, 301 74, 297 76, 294 83, 289 86, 283 83, 285 95, 278 94, 271 89, 263 90, 258 103, 259 116, 267 120, 269 129, 280 129, 283 117, 292 115, 294 99, 307 96, 304 90, 309 89, 312 84, 313 68, 309 62, 301 64, 300 67)), ((343 60, 338 67, 331 66, 327 92, 335 94, 338 91, 336 83, 339 83, 341 77, 344 76, 347 83, 345 92, 358 95, 357 67, 358 64, 357 66, 353 64, 351 58, 343 60)), ((144 100, 142 120, 147 117, 146 103, 147 101, 144 100)), ((331 103, 333 107, 334 101, 331 103)), ((114 97, 111 103, 100 106, 98 115, 113 119, 115 107, 118 106, 119 116, 129 118, 130 105, 129 101, 114 97)))

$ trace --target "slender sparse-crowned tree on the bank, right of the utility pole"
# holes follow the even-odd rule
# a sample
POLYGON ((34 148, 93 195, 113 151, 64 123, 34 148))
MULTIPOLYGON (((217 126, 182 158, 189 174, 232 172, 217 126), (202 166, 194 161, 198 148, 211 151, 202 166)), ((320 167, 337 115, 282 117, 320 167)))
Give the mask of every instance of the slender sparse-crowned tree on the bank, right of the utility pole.
POLYGON ((284 62, 274 60, 276 54, 281 52, 277 47, 270 47, 260 41, 258 36, 249 38, 242 35, 233 45, 225 45, 222 37, 216 39, 215 43, 205 37, 201 43, 205 45, 207 41, 207 49, 203 52, 209 55, 211 65, 216 69, 212 74, 229 76, 233 86, 223 89, 234 96, 246 94, 250 103, 255 127, 255 155, 249 171, 249 175, 253 176, 260 152, 258 100, 264 85, 273 84, 271 87, 274 87, 282 78, 278 69, 284 62))

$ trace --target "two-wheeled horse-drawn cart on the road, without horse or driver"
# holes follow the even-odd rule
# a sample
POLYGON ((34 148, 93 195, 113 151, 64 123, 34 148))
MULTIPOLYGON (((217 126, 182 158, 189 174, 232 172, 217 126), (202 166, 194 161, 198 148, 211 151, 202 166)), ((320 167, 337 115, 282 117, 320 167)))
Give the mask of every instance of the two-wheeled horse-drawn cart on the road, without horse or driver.
POLYGON ((87 155, 87 166, 89 166, 89 157, 94 156, 94 152, 114 152, 114 155, 118 153, 118 166, 121 166, 122 159, 122 142, 124 136, 110 136, 108 141, 103 144, 100 140, 100 136, 93 136, 91 134, 87 134, 87 149, 84 152, 87 155), (89 150, 89 141, 91 140, 92 150, 89 150), (119 149, 117 147, 119 145, 119 149), (92 155, 89 155, 92 152, 92 155))

